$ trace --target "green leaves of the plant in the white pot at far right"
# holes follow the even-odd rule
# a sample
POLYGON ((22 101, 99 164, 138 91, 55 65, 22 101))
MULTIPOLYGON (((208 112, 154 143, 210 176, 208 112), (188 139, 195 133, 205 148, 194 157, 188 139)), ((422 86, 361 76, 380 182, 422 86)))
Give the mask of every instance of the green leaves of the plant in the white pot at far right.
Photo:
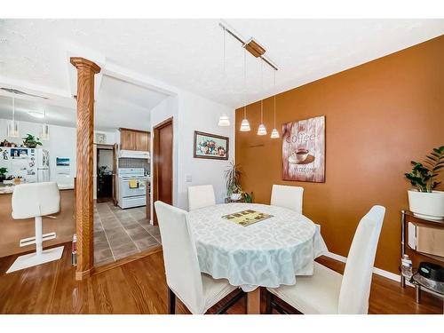
POLYGON ((415 161, 411 161, 411 164, 413 169, 405 173, 406 178, 418 192, 431 193, 436 186, 440 185, 437 177, 444 167, 444 146, 433 148, 432 153, 426 155, 424 164, 415 161))

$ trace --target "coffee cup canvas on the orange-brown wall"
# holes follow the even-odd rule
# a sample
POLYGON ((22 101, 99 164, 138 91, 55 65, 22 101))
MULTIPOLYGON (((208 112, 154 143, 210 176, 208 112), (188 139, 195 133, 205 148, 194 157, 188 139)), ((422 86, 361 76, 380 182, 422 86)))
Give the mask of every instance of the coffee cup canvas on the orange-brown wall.
POLYGON ((282 179, 325 181, 325 116, 282 125, 282 179))

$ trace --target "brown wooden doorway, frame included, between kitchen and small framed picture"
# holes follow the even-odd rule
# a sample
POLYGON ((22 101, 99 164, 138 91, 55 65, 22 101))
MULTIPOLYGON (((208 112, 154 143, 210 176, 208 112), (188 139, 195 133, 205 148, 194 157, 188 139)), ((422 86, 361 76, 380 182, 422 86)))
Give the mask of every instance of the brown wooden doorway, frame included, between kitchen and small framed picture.
MULTIPOLYGON (((172 204, 172 122, 171 117, 153 129, 153 202, 160 200, 172 204)), ((155 210, 153 223, 157 226, 155 210)))

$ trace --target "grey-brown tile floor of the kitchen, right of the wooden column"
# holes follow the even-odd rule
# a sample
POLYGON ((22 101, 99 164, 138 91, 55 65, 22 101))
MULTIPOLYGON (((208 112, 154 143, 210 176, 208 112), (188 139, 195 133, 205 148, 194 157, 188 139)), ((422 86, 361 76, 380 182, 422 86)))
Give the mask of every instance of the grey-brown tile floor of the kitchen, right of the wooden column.
POLYGON ((158 226, 151 226, 145 207, 122 210, 113 202, 94 207, 94 265, 101 266, 161 244, 158 226))

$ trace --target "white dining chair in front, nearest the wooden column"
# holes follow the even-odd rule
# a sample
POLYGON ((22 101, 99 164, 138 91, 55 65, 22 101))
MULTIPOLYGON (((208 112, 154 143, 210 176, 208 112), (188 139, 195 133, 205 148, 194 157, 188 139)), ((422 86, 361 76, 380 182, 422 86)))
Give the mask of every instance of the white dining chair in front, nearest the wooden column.
MULTIPOLYGON (((206 313, 238 287, 232 286, 226 279, 216 280, 208 274, 201 274, 185 210, 157 201, 155 211, 162 237, 169 313, 175 313, 176 296, 191 313, 206 313)), ((244 295, 240 289, 217 313, 225 313, 244 295)))

